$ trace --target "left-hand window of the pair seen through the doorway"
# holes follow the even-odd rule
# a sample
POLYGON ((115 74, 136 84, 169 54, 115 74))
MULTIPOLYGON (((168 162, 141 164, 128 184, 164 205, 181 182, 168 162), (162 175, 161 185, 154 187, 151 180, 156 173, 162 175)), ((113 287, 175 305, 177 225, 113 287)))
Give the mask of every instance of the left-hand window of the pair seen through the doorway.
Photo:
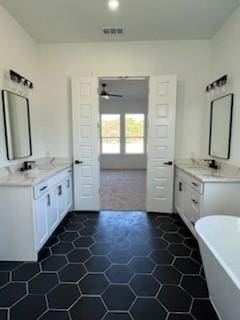
POLYGON ((120 114, 101 115, 101 138, 103 154, 120 153, 120 114))

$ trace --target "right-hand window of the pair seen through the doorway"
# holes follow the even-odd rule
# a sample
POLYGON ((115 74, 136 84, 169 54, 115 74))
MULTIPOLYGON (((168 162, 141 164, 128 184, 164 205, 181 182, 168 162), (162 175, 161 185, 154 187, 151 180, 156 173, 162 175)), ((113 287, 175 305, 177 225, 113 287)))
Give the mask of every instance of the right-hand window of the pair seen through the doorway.
POLYGON ((125 115, 125 153, 144 153, 144 114, 125 115))

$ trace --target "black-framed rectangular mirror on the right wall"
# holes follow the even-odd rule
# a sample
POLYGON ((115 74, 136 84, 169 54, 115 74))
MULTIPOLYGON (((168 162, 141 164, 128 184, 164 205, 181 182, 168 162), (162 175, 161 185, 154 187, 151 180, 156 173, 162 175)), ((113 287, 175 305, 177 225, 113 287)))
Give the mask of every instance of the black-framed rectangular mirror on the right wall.
POLYGON ((215 99, 211 103, 209 155, 230 158, 233 113, 233 94, 215 99))

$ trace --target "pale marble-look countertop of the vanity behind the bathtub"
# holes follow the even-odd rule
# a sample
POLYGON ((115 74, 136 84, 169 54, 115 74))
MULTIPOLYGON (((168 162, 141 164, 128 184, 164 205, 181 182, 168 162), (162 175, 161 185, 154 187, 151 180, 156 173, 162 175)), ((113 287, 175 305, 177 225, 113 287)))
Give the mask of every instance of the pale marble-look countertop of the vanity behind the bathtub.
POLYGON ((201 182, 240 182, 240 169, 238 167, 231 169, 225 167, 216 170, 207 166, 177 163, 176 168, 201 182))

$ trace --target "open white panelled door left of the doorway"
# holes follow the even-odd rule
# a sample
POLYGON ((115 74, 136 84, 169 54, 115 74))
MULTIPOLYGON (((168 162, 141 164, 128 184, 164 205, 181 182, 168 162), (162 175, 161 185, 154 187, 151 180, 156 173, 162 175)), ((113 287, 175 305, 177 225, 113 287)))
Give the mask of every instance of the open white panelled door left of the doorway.
POLYGON ((72 78, 74 209, 100 209, 100 138, 97 77, 72 78))

